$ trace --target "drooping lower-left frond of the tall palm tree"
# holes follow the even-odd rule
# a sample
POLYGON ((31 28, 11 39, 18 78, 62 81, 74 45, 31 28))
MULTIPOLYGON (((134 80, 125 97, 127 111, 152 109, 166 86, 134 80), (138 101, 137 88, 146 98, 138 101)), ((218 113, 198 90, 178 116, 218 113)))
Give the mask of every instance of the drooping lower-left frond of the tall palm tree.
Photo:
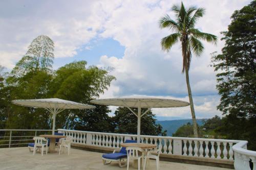
POLYGON ((161 39, 162 50, 169 51, 170 48, 179 41, 180 33, 170 34, 161 39))

